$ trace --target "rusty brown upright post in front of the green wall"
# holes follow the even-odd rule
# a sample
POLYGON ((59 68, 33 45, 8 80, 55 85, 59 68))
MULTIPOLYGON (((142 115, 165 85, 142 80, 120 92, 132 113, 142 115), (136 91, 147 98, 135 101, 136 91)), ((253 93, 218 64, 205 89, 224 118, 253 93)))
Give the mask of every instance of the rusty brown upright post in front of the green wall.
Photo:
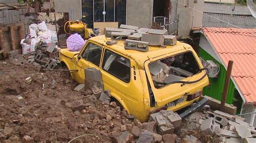
POLYGON ((226 77, 225 77, 223 95, 222 95, 221 103, 220 103, 220 110, 221 111, 224 111, 224 106, 225 106, 226 98, 227 98, 227 91, 228 91, 228 87, 230 85, 230 77, 231 77, 232 67, 233 67, 233 61, 229 60, 228 65, 227 65, 227 74, 226 74, 226 77))

